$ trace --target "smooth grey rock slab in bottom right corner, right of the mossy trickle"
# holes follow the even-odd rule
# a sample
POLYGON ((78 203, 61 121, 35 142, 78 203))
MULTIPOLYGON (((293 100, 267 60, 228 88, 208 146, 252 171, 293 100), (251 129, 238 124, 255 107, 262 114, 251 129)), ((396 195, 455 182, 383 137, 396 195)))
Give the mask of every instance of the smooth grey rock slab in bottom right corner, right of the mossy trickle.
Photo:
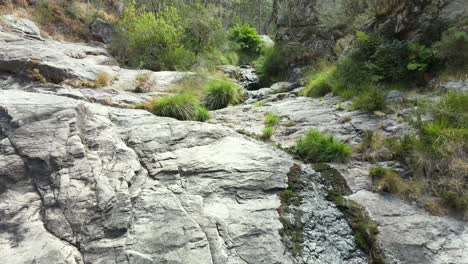
POLYGON ((465 223, 432 216, 401 200, 361 190, 349 197, 379 225, 388 263, 467 263, 465 223))

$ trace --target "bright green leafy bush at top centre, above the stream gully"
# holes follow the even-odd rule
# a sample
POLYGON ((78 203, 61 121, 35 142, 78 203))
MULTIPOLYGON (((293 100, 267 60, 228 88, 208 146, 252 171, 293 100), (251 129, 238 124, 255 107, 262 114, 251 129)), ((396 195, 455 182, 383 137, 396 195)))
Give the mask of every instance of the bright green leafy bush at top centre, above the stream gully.
POLYGON ((236 24, 229 32, 232 41, 240 46, 240 49, 248 54, 260 54, 264 47, 264 42, 257 33, 257 30, 249 24, 236 24))

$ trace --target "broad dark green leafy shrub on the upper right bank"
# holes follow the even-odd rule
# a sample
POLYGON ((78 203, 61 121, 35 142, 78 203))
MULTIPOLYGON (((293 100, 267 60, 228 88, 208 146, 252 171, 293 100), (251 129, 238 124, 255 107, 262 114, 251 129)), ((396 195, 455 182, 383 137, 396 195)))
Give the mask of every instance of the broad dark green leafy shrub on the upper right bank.
POLYGON ((421 82, 434 67, 435 51, 417 43, 363 32, 358 32, 356 39, 351 54, 338 63, 338 92, 359 91, 370 84, 421 82))

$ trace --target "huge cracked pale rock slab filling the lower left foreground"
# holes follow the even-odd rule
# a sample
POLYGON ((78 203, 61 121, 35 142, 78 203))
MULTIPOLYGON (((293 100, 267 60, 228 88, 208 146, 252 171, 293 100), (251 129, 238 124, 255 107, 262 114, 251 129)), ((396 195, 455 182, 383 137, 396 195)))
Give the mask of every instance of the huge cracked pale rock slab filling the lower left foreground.
POLYGON ((294 163, 273 147, 54 95, 0 106, 8 263, 293 263, 276 210, 294 163))

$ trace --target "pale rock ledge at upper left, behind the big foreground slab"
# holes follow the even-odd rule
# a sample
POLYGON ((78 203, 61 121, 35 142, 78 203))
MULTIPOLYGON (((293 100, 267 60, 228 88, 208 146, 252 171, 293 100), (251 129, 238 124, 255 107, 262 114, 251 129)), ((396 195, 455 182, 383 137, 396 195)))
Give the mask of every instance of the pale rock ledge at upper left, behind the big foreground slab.
MULTIPOLYGON (((35 26, 23 18, 2 18, 5 17, 35 26)), ((33 29, 26 26, 15 28, 14 31, 0 28, 0 72, 29 78, 36 69, 47 81, 54 83, 65 80, 96 81, 99 76, 104 75, 109 81, 113 80, 108 85, 110 88, 129 91, 135 89, 140 82, 138 79, 144 79, 145 85, 151 88, 150 92, 164 92, 178 81, 194 74, 123 69, 117 66, 115 59, 102 46, 31 39, 28 36, 33 34, 33 29)))

